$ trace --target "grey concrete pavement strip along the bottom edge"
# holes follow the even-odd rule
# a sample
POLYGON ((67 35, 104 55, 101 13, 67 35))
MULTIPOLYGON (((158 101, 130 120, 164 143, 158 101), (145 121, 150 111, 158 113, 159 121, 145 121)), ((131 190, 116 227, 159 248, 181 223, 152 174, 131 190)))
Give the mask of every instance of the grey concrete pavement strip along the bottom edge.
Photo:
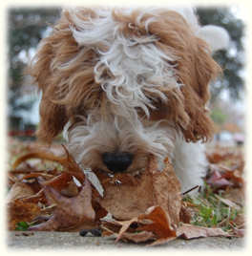
MULTIPOLYGON (((103 250, 117 248, 143 248, 145 245, 115 244, 112 238, 93 237, 87 235, 81 237, 78 232, 8 232, 7 245, 9 249, 94 249, 103 250)), ((166 245, 153 246, 152 248, 165 249, 228 249, 241 250, 245 246, 243 238, 209 237, 192 240, 177 239, 166 245)), ((145 247, 146 248, 146 247, 145 247)))

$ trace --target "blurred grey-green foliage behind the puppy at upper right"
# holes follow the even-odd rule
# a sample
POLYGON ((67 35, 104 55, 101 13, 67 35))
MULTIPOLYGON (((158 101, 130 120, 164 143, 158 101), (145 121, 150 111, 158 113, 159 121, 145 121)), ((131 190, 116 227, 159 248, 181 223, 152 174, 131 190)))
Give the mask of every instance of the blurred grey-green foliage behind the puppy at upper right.
POLYGON ((223 76, 211 87, 212 99, 218 98, 223 89, 227 89, 233 99, 238 99, 243 90, 241 73, 244 62, 244 24, 228 8, 199 8, 197 12, 201 25, 221 26, 230 37, 229 49, 214 54, 214 58, 223 69, 223 76))

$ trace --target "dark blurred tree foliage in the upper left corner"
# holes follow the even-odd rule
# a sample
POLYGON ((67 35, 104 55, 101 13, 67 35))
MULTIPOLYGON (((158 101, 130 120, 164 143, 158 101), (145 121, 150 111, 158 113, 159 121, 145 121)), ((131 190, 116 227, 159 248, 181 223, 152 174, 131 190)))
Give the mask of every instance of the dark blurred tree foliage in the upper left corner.
POLYGON ((9 89, 21 87, 23 69, 26 65, 18 56, 29 53, 42 39, 43 32, 59 17, 57 9, 10 9, 8 22, 9 43, 9 89))

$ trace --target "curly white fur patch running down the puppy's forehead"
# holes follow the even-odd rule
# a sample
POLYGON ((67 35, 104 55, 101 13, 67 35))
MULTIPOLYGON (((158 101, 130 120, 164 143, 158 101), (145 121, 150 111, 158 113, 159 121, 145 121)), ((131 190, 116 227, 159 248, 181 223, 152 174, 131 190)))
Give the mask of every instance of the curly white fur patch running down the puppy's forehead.
MULTIPOLYGON (((155 108, 153 101, 157 98, 166 100, 160 87, 172 90, 180 86, 175 65, 170 64, 177 57, 159 50, 155 45, 156 36, 126 38, 118 31, 119 23, 114 21, 110 11, 102 11, 98 13, 99 18, 89 21, 80 20, 74 11, 71 13, 77 28, 71 28, 76 42, 80 46, 95 48, 100 54, 94 67, 95 82, 121 110, 137 107, 149 117, 148 108, 155 108), (108 50, 100 51, 99 44, 108 50)), ((138 22, 140 19, 141 15, 138 22)), ((146 21, 147 31, 154 20, 155 17, 146 21)))

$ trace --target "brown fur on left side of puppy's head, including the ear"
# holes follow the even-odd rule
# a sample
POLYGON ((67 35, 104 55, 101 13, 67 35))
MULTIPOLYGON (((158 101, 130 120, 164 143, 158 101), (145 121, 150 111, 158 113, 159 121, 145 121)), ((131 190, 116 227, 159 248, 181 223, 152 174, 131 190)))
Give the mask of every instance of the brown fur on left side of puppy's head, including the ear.
POLYGON ((28 70, 42 91, 37 137, 47 142, 63 130, 92 90, 86 85, 94 82, 94 53, 78 46, 71 27, 70 12, 63 11, 52 33, 41 41, 28 70))

